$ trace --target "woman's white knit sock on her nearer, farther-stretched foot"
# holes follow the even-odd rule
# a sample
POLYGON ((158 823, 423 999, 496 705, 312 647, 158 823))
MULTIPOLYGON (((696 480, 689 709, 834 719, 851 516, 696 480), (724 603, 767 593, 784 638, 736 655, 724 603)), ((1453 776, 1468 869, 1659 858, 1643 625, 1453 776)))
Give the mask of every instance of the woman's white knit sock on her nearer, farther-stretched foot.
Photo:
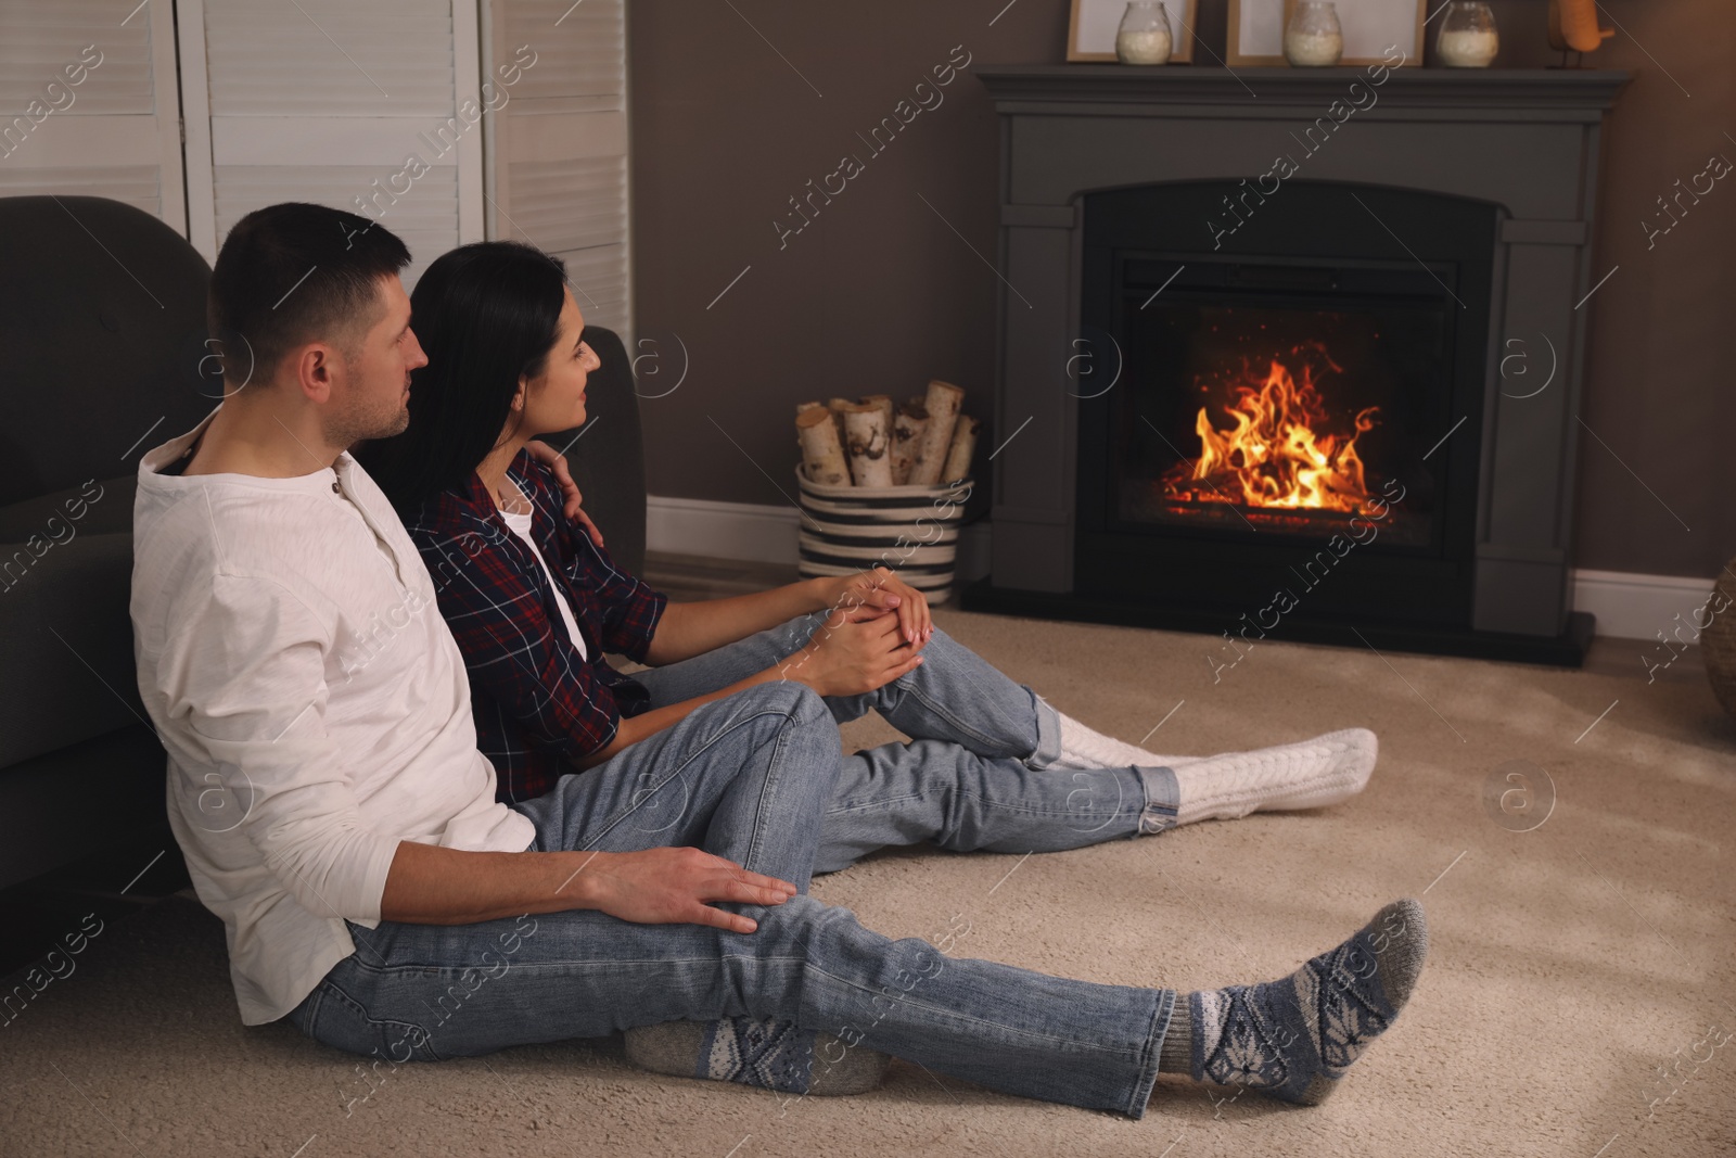
POLYGON ((1378 748, 1375 733, 1347 727, 1302 743, 1170 764, 1180 800, 1175 823, 1338 804, 1368 783, 1378 748))

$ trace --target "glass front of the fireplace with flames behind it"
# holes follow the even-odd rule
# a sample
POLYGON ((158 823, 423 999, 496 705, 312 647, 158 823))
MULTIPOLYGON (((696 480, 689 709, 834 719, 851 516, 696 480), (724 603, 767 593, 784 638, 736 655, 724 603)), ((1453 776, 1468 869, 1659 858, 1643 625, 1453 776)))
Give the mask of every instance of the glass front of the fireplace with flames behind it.
POLYGON ((1330 538, 1361 516, 1389 547, 1434 545, 1453 335, 1429 290, 1401 271, 1130 262, 1106 530, 1330 538))

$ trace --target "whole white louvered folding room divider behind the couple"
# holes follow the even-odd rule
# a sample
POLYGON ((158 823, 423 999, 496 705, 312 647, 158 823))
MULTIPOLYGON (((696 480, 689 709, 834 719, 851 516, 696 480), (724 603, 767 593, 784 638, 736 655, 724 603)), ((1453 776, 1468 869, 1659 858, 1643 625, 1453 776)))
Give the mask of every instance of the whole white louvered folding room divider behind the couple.
POLYGON ((0 196, 128 201, 208 262, 333 205, 404 238, 406 288, 528 240, 632 342, 623 0, 0 0, 0 196))

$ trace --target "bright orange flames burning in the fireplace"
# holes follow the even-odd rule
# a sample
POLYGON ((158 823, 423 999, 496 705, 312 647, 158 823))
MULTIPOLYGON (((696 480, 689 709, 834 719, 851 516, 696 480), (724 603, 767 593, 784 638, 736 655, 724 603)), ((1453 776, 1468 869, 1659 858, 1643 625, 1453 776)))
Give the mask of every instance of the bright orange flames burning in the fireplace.
POLYGON ((1165 493, 1246 507, 1363 510, 1370 491, 1356 439, 1373 429, 1380 408, 1359 411, 1351 434, 1325 434, 1326 408, 1307 365, 1300 385, 1278 359, 1264 382, 1253 372, 1248 378, 1257 385, 1238 385, 1236 403, 1224 408, 1234 422, 1229 431, 1213 427, 1208 408, 1200 408, 1200 458, 1175 464, 1163 476, 1165 493))

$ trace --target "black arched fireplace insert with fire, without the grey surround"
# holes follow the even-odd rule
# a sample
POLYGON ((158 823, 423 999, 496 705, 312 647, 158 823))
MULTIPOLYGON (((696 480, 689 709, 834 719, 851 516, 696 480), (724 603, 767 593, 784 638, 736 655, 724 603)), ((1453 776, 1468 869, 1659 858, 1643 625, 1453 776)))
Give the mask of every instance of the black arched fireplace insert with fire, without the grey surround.
POLYGON ((1083 198, 1075 592, 1234 618, 1295 568, 1312 615, 1463 622, 1495 207, 1302 182, 1213 248, 1238 193, 1083 198))

